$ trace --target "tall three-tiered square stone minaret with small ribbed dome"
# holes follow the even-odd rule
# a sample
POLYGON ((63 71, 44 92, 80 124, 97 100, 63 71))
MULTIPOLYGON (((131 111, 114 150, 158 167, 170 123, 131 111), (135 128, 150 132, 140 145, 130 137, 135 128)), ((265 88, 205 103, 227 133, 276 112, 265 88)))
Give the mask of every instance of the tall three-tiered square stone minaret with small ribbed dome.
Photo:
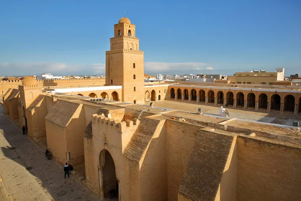
POLYGON ((128 18, 114 25, 111 49, 106 51, 106 85, 122 85, 122 102, 144 104, 143 51, 139 50, 136 26, 128 18))

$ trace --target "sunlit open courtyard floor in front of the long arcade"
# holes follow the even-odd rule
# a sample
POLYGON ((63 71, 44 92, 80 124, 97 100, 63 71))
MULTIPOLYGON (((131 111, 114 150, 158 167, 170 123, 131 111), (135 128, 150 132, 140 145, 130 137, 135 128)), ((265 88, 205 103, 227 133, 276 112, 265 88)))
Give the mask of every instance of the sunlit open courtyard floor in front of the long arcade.
MULTIPOLYGON (((219 115, 221 106, 205 105, 205 104, 193 104, 188 102, 179 102, 175 100, 161 100, 154 102, 153 106, 170 108, 175 110, 182 110, 188 112, 197 112, 198 108, 202 108, 204 114, 219 115)), ((263 110, 255 111, 252 109, 243 110, 240 108, 233 109, 232 107, 226 107, 226 110, 230 113, 231 118, 257 121, 272 124, 281 124, 286 126, 292 126, 293 121, 299 121, 301 123, 301 114, 293 115, 288 113, 273 112, 267 113, 263 110)))

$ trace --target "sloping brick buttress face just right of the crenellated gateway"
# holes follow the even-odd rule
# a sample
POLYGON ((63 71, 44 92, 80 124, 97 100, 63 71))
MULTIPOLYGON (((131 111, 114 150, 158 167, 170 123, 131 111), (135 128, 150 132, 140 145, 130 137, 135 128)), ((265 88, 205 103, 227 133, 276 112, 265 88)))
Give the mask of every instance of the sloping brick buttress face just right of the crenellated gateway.
POLYGON ((159 120, 142 118, 139 119, 138 128, 124 149, 124 156, 130 160, 139 162, 149 142, 152 140, 158 127, 159 120))

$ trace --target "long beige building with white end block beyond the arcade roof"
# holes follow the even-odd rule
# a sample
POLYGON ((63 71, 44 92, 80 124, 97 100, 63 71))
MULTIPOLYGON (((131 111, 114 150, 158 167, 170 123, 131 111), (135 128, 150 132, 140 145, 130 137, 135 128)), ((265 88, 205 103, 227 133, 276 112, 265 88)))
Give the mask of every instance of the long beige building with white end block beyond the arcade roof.
POLYGON ((274 81, 284 80, 284 68, 276 68, 275 72, 265 70, 253 70, 250 72, 236 72, 237 84, 273 84, 274 81))

